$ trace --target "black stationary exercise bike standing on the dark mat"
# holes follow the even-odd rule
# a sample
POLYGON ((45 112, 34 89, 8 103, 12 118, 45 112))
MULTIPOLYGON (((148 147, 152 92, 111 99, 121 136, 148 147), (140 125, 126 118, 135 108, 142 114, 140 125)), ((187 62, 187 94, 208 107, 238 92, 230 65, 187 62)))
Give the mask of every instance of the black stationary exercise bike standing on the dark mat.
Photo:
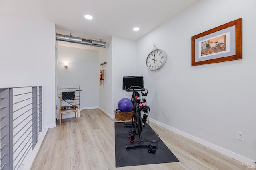
MULTIPOLYGON (((148 147, 149 153, 155 153, 156 150, 154 148, 158 147, 157 141, 143 141, 142 140, 142 130, 145 125, 148 125, 146 123, 148 118, 148 111, 149 106, 146 105, 146 99, 139 98, 136 94, 137 92, 145 91, 145 88, 140 86, 130 86, 129 88, 126 88, 126 92, 133 92, 134 98, 134 105, 132 109, 132 122, 125 122, 124 126, 126 127, 132 127, 130 133, 129 133, 129 139, 130 143, 126 144, 126 149, 130 149, 132 147, 148 147), (139 135, 139 141, 135 141, 135 135, 139 135)), ((148 125, 149 126, 149 125, 148 125)))

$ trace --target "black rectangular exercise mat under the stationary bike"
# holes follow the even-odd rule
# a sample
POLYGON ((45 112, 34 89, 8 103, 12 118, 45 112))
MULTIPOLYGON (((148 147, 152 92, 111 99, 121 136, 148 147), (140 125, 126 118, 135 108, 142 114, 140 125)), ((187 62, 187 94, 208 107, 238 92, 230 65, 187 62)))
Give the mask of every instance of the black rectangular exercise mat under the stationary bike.
MULTIPOLYGON (((155 148, 156 152, 154 154, 148 153, 147 147, 126 149, 126 144, 130 143, 129 132, 131 129, 132 127, 124 127, 124 122, 115 122, 116 167, 179 162, 164 142, 147 125, 143 127, 142 140, 158 141, 158 147, 155 148)), ((134 142, 136 141, 139 141, 138 135, 135 135, 134 142)))

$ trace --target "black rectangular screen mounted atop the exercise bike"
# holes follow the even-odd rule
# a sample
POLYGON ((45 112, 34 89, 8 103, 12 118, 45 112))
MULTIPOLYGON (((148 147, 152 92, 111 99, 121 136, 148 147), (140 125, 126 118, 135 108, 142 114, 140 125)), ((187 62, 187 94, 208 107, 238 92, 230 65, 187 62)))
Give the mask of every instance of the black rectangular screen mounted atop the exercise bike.
MULTIPOLYGON (((130 88, 131 86, 139 86, 140 88, 144 88, 143 84, 143 76, 126 76, 123 77, 123 89, 130 88)), ((131 88, 136 89, 136 88, 131 88)))

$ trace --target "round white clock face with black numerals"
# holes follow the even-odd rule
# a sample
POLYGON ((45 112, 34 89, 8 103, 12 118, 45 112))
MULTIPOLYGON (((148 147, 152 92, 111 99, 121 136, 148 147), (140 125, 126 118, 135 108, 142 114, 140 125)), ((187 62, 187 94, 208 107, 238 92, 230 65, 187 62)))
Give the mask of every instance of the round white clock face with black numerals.
POLYGON ((149 70, 158 70, 162 68, 166 62, 166 53, 163 50, 156 49, 149 53, 146 64, 149 70))

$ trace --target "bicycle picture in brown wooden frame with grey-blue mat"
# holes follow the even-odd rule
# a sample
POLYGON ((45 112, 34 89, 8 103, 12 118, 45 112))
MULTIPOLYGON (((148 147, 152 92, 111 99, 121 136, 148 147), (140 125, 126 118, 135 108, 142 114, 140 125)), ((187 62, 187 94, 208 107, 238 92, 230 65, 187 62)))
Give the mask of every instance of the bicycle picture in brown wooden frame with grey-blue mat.
POLYGON ((192 66, 242 59, 242 18, 191 37, 192 66))

